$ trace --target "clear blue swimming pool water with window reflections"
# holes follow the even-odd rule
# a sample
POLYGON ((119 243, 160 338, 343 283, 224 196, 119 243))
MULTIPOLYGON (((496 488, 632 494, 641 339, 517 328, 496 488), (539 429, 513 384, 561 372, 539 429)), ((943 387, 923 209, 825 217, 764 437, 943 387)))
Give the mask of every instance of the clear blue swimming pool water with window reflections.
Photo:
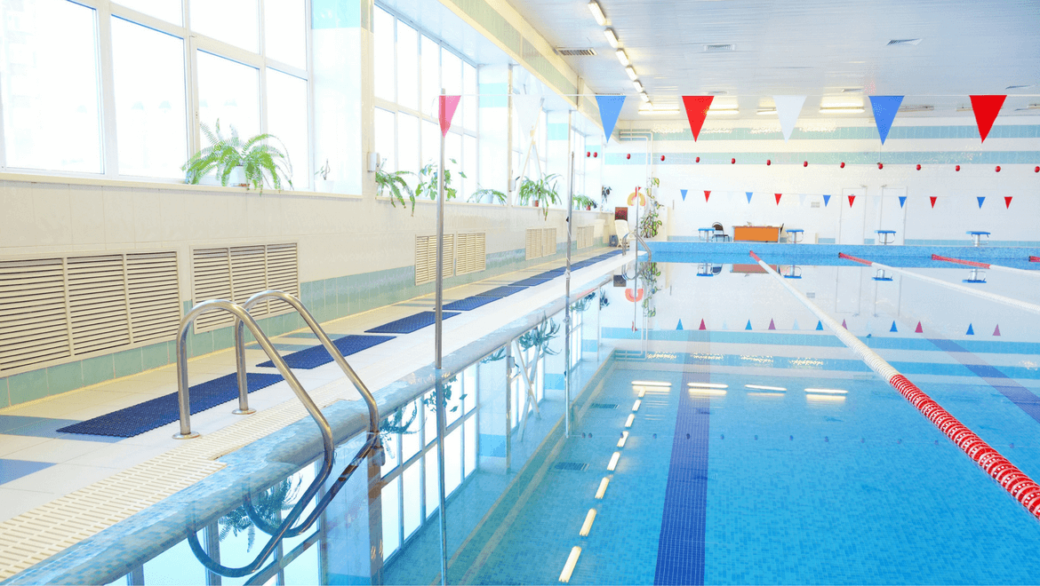
MULTIPOLYGON (((213 568, 256 557, 261 527, 318 474, 316 441, 262 441, 280 476, 218 506, 160 504, 103 554, 10 582, 432 584, 446 563, 451 584, 1036 583, 1037 517, 782 285, 1037 479, 1040 317, 903 271, 1026 303, 1035 276, 775 250, 759 252, 781 276, 738 251, 655 252, 582 292, 569 340, 560 312, 469 348, 445 394, 446 555, 427 387, 382 414, 386 464, 362 467, 258 574, 213 568)), ((363 441, 338 446, 333 478, 363 441)))

